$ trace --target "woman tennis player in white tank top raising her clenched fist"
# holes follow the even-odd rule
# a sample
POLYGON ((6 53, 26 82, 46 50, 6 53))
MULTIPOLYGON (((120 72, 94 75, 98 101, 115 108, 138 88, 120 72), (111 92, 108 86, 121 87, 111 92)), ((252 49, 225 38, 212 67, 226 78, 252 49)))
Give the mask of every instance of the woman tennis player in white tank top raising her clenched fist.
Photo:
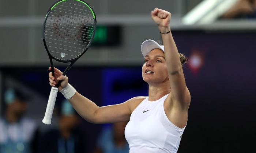
POLYGON ((178 53, 174 43, 169 26, 171 13, 155 8, 151 17, 158 26, 164 46, 154 40, 146 40, 141 46, 145 58, 142 77, 149 85, 148 97, 134 97, 124 103, 99 107, 80 95, 57 68, 54 68, 56 79, 50 72, 49 81, 51 86, 62 81, 59 91, 87 121, 129 121, 125 138, 130 153, 176 153, 187 125, 191 99, 182 71, 186 58, 178 53))

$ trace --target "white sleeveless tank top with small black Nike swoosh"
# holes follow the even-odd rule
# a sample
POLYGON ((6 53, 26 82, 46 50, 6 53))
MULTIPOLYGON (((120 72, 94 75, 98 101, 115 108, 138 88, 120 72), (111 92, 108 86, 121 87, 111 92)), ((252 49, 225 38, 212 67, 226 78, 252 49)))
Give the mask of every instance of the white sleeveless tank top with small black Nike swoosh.
POLYGON ((167 118, 163 102, 168 95, 157 101, 147 97, 133 110, 125 127, 130 153, 177 152, 185 127, 181 129, 167 118))

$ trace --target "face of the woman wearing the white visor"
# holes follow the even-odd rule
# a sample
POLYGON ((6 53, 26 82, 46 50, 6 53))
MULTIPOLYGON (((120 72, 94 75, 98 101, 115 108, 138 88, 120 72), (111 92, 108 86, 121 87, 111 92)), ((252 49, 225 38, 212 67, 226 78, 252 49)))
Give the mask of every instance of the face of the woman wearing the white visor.
POLYGON ((147 83, 163 83, 169 80, 162 50, 154 49, 147 54, 142 66, 142 78, 147 83))

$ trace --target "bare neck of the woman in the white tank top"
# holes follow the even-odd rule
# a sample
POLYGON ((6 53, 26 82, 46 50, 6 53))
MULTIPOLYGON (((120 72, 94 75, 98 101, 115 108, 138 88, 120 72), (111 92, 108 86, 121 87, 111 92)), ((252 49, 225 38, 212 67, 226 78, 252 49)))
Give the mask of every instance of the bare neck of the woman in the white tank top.
POLYGON ((170 93, 170 91, 171 89, 169 82, 150 84, 148 88, 148 100, 156 101, 164 95, 170 93))

